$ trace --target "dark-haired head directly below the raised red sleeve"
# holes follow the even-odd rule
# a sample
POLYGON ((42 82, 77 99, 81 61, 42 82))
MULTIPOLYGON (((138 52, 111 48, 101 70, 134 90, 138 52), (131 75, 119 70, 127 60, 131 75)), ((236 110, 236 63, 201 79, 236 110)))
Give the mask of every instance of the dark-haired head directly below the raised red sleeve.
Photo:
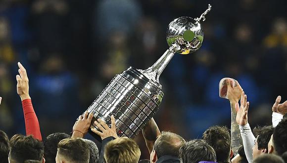
POLYGON ((9 163, 24 163, 26 160, 35 160, 45 163, 44 146, 32 135, 14 135, 10 140, 9 163))

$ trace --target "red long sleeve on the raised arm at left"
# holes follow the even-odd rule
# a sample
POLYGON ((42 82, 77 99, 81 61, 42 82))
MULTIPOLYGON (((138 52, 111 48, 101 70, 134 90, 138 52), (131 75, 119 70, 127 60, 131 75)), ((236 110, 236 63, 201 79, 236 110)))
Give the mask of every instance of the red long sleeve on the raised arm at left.
POLYGON ((31 99, 23 100, 22 106, 25 119, 26 135, 33 135, 34 138, 42 141, 39 121, 33 109, 31 99))

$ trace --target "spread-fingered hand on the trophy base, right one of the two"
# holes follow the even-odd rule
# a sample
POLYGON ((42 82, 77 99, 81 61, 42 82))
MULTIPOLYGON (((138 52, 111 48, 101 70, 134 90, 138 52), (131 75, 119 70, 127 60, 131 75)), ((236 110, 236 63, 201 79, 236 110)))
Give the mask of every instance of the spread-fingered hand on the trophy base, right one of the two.
POLYGON ((114 138, 118 138, 118 135, 116 132, 115 118, 113 115, 111 116, 111 127, 109 127, 101 119, 97 119, 97 121, 98 122, 95 121, 94 124, 102 132, 96 130, 95 128, 92 128, 92 131, 95 132, 97 135, 99 135, 101 137, 101 140, 103 140, 104 138, 110 137, 110 136, 113 136, 114 138))

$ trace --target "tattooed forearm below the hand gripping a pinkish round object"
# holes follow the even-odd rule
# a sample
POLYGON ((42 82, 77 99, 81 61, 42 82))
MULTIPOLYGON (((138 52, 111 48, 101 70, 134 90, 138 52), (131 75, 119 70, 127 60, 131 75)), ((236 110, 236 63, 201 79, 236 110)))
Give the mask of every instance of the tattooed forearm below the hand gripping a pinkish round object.
POLYGON ((235 110, 236 102, 231 102, 231 147, 233 149, 234 155, 238 154, 239 148, 242 146, 242 139, 239 131, 239 126, 236 122, 236 110, 235 110))

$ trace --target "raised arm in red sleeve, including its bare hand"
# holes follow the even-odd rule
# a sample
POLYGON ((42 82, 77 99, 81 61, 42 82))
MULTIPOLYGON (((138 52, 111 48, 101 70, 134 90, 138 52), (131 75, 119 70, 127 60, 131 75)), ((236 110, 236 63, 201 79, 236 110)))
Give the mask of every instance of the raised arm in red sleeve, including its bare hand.
POLYGON ((26 135, 33 135, 34 138, 42 141, 40 125, 35 114, 31 97, 29 95, 29 80, 26 69, 18 62, 19 75, 16 75, 17 93, 21 98, 25 119, 26 135))

